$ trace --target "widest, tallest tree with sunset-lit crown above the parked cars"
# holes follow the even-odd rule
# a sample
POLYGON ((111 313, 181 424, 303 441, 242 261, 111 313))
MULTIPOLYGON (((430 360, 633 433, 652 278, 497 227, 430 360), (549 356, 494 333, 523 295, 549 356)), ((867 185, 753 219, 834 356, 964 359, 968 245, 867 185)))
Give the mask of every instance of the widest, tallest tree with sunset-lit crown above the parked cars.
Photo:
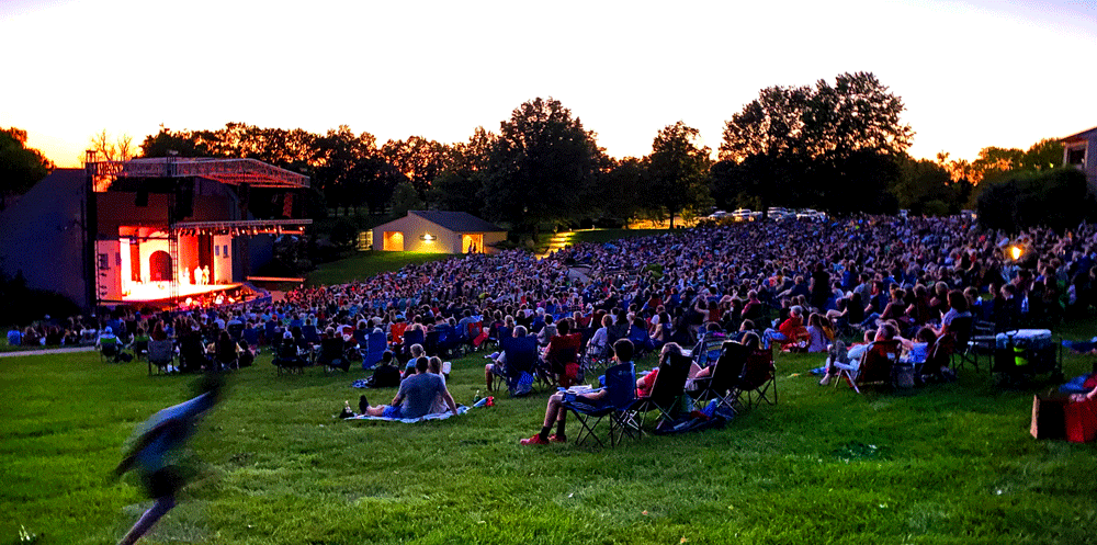
POLYGON ((914 135, 903 109, 870 72, 762 89, 725 123, 720 158, 749 167, 764 207, 880 208, 914 135))

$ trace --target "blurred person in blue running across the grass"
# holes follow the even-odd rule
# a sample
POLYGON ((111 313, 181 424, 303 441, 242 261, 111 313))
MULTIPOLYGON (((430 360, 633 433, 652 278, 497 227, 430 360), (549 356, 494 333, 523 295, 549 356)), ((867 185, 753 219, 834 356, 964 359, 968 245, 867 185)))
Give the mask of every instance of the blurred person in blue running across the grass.
POLYGON ((126 532, 118 545, 135 543, 176 507, 176 493, 185 482, 173 463, 186 440, 194 433, 199 417, 219 400, 222 384, 219 374, 206 374, 197 384, 201 394, 189 401, 160 410, 137 428, 136 439, 114 473, 121 477, 127 472, 136 472, 145 493, 156 502, 126 532))

